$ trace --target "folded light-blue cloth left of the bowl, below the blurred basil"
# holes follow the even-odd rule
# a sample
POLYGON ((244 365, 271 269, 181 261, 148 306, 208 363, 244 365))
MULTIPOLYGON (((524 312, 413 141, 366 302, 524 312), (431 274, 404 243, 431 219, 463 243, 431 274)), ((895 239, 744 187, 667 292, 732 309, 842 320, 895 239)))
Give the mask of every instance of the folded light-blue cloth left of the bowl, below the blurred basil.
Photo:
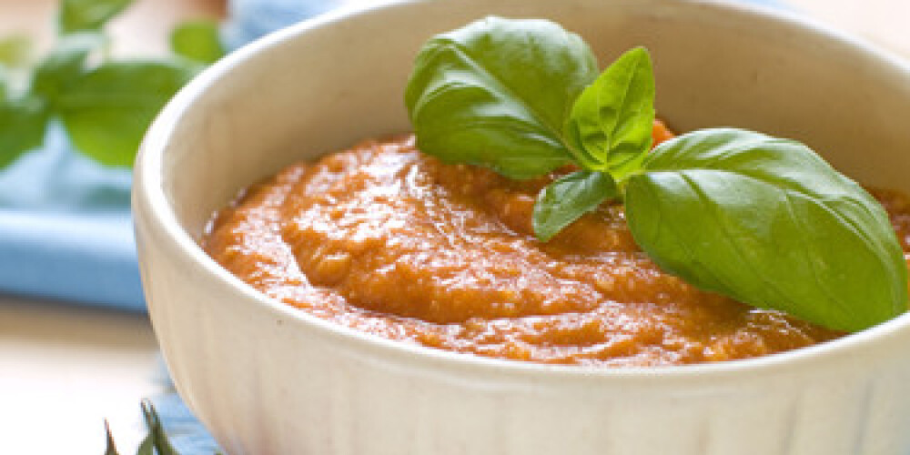
POLYGON ((0 290, 142 311, 130 171, 78 155, 60 126, 0 172, 0 290))

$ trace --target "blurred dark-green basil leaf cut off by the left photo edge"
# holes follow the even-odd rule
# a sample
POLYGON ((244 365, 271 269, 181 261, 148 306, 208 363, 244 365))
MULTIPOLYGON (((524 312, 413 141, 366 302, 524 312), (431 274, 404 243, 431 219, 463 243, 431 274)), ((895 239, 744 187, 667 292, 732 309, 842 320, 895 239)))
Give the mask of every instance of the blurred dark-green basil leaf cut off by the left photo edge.
POLYGON ((35 97, 0 101, 0 169, 41 146, 47 121, 45 104, 35 97))

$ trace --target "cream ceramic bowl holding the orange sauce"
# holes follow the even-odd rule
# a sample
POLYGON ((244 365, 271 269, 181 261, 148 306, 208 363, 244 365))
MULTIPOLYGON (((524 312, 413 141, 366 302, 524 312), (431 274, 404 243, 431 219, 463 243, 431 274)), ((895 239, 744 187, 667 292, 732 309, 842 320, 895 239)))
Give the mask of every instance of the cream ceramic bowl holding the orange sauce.
POLYGON ((320 17, 207 70, 137 161, 149 311, 180 395, 231 454, 905 454, 910 316, 762 359, 584 369, 480 359, 334 326, 258 294, 197 246, 278 168, 409 129, 402 89, 430 35, 547 17, 606 62, 647 45, 673 126, 802 139, 910 192, 910 70, 842 35, 680 0, 399 2, 320 17))

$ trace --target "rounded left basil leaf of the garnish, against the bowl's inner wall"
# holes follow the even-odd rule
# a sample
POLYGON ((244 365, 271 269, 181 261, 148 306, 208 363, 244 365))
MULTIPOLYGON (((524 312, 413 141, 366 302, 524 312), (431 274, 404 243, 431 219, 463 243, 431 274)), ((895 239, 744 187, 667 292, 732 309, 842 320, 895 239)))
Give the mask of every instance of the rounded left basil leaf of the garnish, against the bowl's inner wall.
POLYGON ((423 152, 536 177, 571 161, 562 127, 597 75, 591 48, 560 25, 488 17, 423 46, 405 104, 423 152))

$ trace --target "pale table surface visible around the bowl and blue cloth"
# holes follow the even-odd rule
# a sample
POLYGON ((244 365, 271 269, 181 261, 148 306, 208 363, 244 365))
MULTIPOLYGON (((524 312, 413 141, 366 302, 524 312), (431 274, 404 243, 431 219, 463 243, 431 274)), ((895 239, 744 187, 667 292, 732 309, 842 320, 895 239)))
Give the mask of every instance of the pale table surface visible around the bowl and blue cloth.
MULTIPOLYGON (((910 2, 784 3, 910 57, 910 2)), ((46 45, 55 9, 55 0, 0 0, 0 36, 37 33, 46 45)), ((165 52, 181 18, 223 9, 221 0, 139 0, 113 26, 115 52, 165 52)), ((135 453, 145 430, 138 403, 163 390, 162 368, 145 316, 0 295, 0 453, 100 455, 104 419, 121 453, 135 453)))

